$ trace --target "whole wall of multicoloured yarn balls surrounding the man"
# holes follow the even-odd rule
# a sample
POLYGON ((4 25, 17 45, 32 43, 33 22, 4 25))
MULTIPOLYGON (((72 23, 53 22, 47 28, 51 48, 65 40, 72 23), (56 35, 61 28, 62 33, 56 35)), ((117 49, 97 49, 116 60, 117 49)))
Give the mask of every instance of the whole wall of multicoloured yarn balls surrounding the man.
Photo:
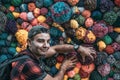
MULTIPOLYGON (((63 80, 120 80, 120 0, 0 0, 0 63, 27 47, 28 31, 42 25, 50 30, 50 45, 78 44, 96 50, 94 61, 78 55, 63 80)), ((45 59, 54 76, 65 57, 45 59)))

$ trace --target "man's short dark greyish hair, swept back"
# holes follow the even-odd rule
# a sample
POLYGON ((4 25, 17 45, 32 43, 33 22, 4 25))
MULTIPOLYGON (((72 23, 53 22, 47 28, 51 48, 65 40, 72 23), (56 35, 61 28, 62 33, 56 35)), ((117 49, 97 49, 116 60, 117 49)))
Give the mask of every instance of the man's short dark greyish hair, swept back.
POLYGON ((28 38, 33 39, 35 35, 40 33, 49 33, 49 30, 43 26, 33 26, 28 32, 28 38))

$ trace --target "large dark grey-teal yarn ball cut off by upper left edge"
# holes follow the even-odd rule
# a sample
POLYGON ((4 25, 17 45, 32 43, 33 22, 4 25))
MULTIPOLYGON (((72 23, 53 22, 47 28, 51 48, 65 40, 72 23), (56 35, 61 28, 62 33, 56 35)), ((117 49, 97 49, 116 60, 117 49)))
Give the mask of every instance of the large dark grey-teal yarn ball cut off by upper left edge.
POLYGON ((0 11, 0 32, 3 32, 7 22, 7 17, 3 12, 0 11))

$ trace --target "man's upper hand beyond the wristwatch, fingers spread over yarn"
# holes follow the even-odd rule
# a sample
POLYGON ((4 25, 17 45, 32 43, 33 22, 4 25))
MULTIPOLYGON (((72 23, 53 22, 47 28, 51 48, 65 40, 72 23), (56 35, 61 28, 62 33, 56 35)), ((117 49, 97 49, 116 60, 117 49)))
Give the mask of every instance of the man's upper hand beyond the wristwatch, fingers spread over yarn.
POLYGON ((83 62, 85 62, 86 56, 90 56, 92 60, 94 60, 94 57, 96 57, 96 51, 93 47, 79 46, 77 51, 82 56, 83 62))

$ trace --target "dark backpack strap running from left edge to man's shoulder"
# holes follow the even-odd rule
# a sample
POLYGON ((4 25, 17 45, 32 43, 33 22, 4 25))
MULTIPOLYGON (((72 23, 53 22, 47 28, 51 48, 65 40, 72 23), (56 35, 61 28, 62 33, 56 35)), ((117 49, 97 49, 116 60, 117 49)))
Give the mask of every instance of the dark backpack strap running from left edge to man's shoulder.
POLYGON ((27 59, 27 58, 30 58, 28 55, 20 55, 20 56, 15 56, 9 60, 6 60, 4 61, 1 65, 0 65, 0 68, 4 67, 5 65, 8 65, 12 62, 15 62, 15 61, 18 61, 18 60, 21 60, 21 59, 27 59))

